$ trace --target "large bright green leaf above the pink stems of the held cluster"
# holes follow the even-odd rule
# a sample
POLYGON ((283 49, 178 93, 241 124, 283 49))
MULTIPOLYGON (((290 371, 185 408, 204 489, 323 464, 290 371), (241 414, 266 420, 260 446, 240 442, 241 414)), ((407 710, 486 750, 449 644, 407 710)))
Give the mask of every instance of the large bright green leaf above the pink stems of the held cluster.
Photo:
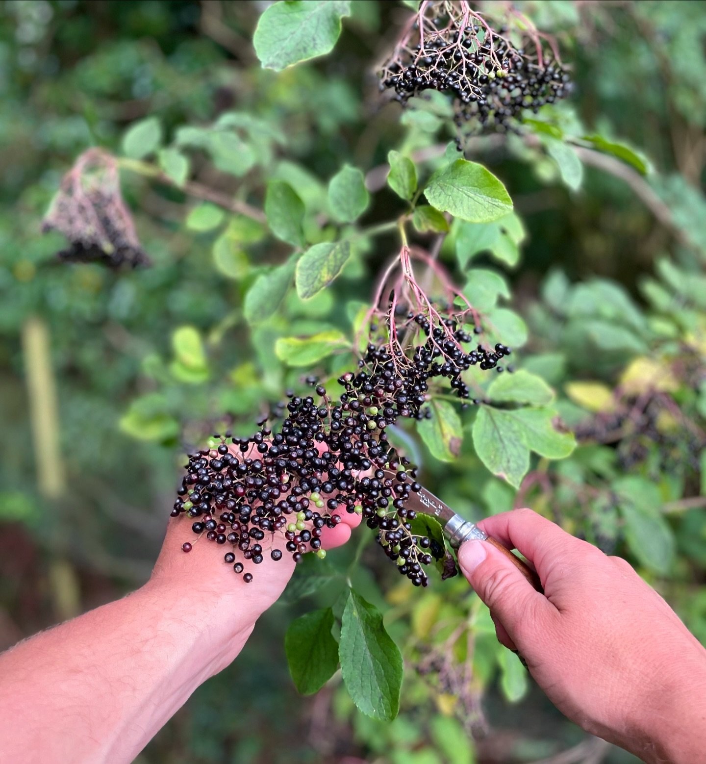
POLYGON ((497 220, 513 209, 500 180, 482 164, 465 159, 437 170, 429 178, 424 196, 436 209, 473 223, 497 220))

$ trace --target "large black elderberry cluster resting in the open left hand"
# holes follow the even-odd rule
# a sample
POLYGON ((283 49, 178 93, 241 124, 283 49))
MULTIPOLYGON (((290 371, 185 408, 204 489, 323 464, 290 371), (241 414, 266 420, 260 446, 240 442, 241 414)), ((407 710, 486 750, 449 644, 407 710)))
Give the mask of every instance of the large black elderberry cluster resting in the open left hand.
MULTIPOLYGON (((189 458, 172 516, 189 517, 197 537, 224 545, 225 562, 241 573, 245 568, 236 554, 260 564, 277 532, 295 562, 309 551, 325 556, 322 529, 335 527, 344 512, 358 513, 378 531, 377 542, 400 573, 426 586, 423 565, 433 562, 432 551, 440 556, 443 550, 414 532, 416 513, 406 502, 420 489, 416 468, 390 445, 387 428, 400 416, 424 416, 434 377, 449 377, 458 396, 468 398, 461 372, 475 364, 497 367, 510 349, 478 346, 465 352, 460 343, 470 342, 471 335, 454 319, 429 325, 424 316, 411 318, 426 341, 410 344, 406 353, 368 345, 358 372, 339 377, 344 392, 337 401, 316 377, 308 377, 317 399, 288 393, 276 432, 261 422, 251 438, 228 435, 232 445, 214 435, 209 448, 189 458)), ((192 544, 183 549, 189 552, 192 544)), ((278 560, 282 553, 272 549, 270 556, 278 560)), ((244 580, 252 580, 249 571, 244 580)))

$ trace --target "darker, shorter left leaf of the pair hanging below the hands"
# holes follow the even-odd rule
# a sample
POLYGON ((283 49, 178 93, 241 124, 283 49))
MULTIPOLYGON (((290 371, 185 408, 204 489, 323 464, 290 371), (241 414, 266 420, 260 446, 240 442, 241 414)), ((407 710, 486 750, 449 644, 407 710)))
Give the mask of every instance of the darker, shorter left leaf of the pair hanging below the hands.
POLYGON ((284 651, 294 685, 303 695, 318 692, 338 669, 333 623, 333 610, 325 607, 296 618, 287 629, 284 651))

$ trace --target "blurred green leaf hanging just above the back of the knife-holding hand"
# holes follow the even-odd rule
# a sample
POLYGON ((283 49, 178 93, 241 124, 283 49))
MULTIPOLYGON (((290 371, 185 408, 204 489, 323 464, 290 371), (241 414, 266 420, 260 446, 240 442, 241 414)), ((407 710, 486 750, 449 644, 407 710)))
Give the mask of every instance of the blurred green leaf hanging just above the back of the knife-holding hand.
POLYGON ((675 555, 675 539, 662 516, 662 497, 656 484, 636 475, 613 484, 620 497, 620 514, 625 523, 625 540, 641 565, 667 575, 675 555))

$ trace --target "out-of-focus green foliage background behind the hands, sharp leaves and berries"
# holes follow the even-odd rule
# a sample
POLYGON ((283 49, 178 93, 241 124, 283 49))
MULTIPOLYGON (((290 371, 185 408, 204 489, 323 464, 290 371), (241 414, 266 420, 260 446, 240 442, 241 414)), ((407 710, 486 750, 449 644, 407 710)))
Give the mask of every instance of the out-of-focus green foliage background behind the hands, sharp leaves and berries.
MULTIPOLYGON (((372 227, 404 212, 385 188, 388 151, 420 174, 443 161, 453 137, 444 103, 400 119, 377 90, 406 5, 355 0, 333 53, 274 72, 251 44, 264 2, 0 3, 0 648, 147 578, 185 448, 224 413, 250 432, 300 385, 303 370, 274 354, 277 338, 351 334, 399 247, 392 233, 356 239, 341 276, 310 301, 289 290, 260 317, 246 296, 290 257, 267 234, 268 180, 296 189, 313 244, 335 236, 325 187, 344 163, 366 173, 372 227), (121 157, 149 268, 62 264, 61 235, 40 235, 63 174, 92 146, 121 157)), ((706 4, 517 6, 572 64, 572 98, 538 119, 559 125, 552 135, 578 146, 575 158, 546 143, 473 139, 467 157, 503 180, 523 221, 521 258, 469 254, 456 225, 440 257, 459 283, 472 260, 510 285, 528 335, 517 367, 555 388, 579 447, 563 461, 533 456, 516 491, 474 455, 474 412, 451 464, 413 428, 400 438, 458 511, 477 519, 529 504, 627 556, 704 641, 706 4), (630 160, 574 140, 587 135, 632 147, 630 160), (640 157, 649 173, 636 170, 640 157)), ((334 567, 350 562, 349 547, 330 555, 334 567)), ((378 552, 363 550, 356 586, 405 655, 397 720, 358 714, 339 675, 297 696, 283 633, 294 615, 335 601, 323 581, 268 613, 139 761, 635 760, 552 709, 498 648, 464 582, 400 587, 378 552)))

